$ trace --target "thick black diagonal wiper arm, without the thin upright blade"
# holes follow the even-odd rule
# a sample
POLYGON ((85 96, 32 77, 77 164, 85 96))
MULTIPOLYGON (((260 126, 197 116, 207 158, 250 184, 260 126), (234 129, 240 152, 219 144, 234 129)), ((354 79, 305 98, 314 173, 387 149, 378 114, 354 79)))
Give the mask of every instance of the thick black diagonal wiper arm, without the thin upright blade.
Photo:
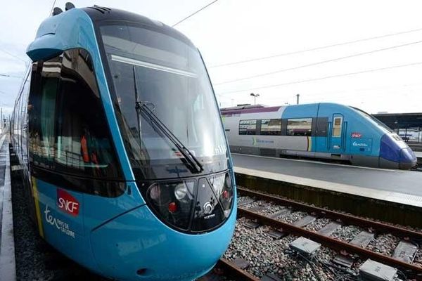
MULTIPOLYGON (((148 117, 148 119, 151 121, 151 124, 155 128, 158 128, 162 134, 164 134, 179 150, 181 155, 183 155, 184 159, 186 159, 186 162, 188 162, 188 168, 191 170, 193 174, 198 174, 201 171, 203 171, 203 165, 199 162, 198 158, 196 158, 195 155, 191 152, 191 150, 188 150, 186 146, 181 143, 179 138, 177 136, 174 136, 174 133, 168 129, 167 126, 165 126, 164 123, 161 122, 161 120, 157 117, 157 115, 154 114, 154 112, 148 107, 148 102, 138 102, 136 103, 136 107, 141 110, 141 112, 148 117)), ((187 164, 187 163, 186 163, 187 164)))

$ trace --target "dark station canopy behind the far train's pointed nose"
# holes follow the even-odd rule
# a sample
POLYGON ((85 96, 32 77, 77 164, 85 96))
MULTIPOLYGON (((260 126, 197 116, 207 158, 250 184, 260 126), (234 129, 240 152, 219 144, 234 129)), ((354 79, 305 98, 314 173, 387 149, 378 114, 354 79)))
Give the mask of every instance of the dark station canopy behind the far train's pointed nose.
POLYGON ((381 113, 372 115, 391 129, 422 128, 422 112, 419 113, 381 113))

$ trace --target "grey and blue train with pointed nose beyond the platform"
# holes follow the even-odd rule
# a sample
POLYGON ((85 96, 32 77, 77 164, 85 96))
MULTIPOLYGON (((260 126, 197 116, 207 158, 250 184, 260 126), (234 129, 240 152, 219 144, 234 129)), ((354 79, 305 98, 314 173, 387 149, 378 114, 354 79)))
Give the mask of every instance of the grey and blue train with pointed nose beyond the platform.
POLYGON ((231 152, 334 159, 360 166, 410 169, 416 155, 378 119, 355 107, 314 103, 221 110, 231 152))

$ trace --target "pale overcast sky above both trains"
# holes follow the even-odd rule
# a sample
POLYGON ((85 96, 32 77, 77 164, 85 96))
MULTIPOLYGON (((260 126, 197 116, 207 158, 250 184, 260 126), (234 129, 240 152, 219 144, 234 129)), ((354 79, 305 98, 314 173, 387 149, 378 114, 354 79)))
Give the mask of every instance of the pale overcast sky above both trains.
MULTIPOLYGON (((73 1, 77 7, 132 11, 167 25, 210 2, 73 1)), ((0 9, 0 107, 6 114, 28 63, 25 49, 52 3, 8 0, 0 9)), ((64 9, 65 1, 56 6, 64 9)), ((257 103, 265 105, 295 104, 299 93, 300 103, 422 112, 421 13, 421 1, 219 0, 176 28, 203 54, 222 107, 253 103, 250 93, 259 93, 257 103), (395 33, 401 34, 383 37, 395 33), (381 38, 359 41, 370 37, 381 38), (341 44, 349 41, 358 42, 341 44), (333 44, 340 45, 319 48, 333 44), (312 48, 319 49, 305 51, 312 48), (216 67, 274 55, 280 56, 216 67), (275 73, 264 75, 269 72, 275 73), (224 83, 231 80, 238 81, 224 83)))

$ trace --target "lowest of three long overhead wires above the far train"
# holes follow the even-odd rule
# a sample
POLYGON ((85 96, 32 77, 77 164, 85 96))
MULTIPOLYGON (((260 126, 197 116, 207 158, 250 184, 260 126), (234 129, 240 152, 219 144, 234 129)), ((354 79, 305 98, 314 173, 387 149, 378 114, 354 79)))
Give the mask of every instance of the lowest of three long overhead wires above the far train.
POLYGON ((331 79, 331 78, 337 78, 337 77, 345 77, 345 76, 351 76, 351 75, 356 75, 356 74, 363 74, 363 73, 370 73, 370 72, 378 72, 378 71, 383 71, 383 70, 391 70, 394 68, 399 68, 399 67, 409 67, 409 66, 414 66, 414 65, 422 65, 422 62, 418 62, 418 63, 407 63, 404 65, 393 65, 390 67, 381 67, 381 68, 375 68, 372 70, 362 70, 362 71, 357 71, 357 72, 348 72, 348 73, 342 73, 342 74, 334 74, 334 75, 328 75, 328 76, 324 76, 324 77, 318 77, 318 78, 312 78, 312 79, 304 79, 304 80, 298 80, 298 81, 291 81, 291 82, 286 82, 286 83, 281 83, 281 84, 273 84, 273 85, 267 85, 267 86, 257 86, 257 87, 252 87, 252 88, 248 88, 248 89, 241 89, 241 90, 235 90, 235 91, 224 91, 222 93, 218 93, 219 95, 222 94, 226 94, 226 93, 238 93, 238 92, 243 92, 243 91, 250 91, 250 90, 257 90, 257 89, 268 89, 268 88, 276 88, 279 86, 286 86, 286 85, 292 85, 292 84, 301 84, 301 83, 307 83, 307 82, 312 82, 312 81, 319 81, 319 80, 324 80, 324 79, 331 79))

